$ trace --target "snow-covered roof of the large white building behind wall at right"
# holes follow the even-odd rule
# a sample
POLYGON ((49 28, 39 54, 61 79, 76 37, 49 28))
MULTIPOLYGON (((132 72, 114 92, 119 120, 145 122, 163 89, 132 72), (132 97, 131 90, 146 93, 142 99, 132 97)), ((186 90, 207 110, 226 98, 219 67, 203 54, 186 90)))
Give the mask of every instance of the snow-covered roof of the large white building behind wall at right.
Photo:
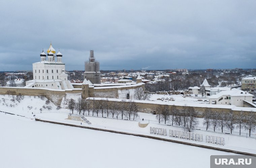
POLYGON ((250 93, 247 93, 245 91, 234 88, 232 90, 221 91, 217 95, 212 95, 209 98, 210 99, 217 99, 217 98, 220 98, 222 96, 253 96, 253 95, 250 94, 250 93))

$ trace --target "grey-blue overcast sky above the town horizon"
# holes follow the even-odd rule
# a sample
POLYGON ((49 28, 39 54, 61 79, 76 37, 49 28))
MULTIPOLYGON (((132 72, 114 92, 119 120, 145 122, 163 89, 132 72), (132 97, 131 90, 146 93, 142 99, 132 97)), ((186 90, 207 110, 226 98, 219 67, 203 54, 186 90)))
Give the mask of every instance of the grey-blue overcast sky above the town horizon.
POLYGON ((1 1, 0 71, 60 48, 66 70, 256 68, 255 0, 1 1))

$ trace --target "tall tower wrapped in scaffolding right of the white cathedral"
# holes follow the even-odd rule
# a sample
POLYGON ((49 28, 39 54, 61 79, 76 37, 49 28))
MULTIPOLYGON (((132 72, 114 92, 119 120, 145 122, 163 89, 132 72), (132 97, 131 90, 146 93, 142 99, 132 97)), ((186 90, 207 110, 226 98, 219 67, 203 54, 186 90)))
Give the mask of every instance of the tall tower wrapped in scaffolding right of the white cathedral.
POLYGON ((85 61, 84 79, 90 80, 93 84, 100 84, 100 63, 95 61, 94 51, 90 51, 89 61, 85 61))

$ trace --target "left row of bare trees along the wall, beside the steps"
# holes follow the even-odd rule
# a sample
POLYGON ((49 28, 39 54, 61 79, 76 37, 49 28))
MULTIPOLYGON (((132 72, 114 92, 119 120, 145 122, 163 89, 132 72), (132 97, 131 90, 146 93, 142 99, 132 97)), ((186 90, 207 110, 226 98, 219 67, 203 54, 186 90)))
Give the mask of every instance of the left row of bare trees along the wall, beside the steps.
POLYGON ((68 108, 72 111, 76 110, 79 114, 83 113, 85 115, 85 112, 88 112, 88 115, 90 113, 92 116, 95 114, 98 116, 101 114, 103 117, 103 114, 106 115, 106 117, 112 117, 114 116, 118 119, 118 117, 121 117, 121 119, 124 119, 124 117, 127 117, 127 119, 131 120, 131 117, 133 117, 133 120, 135 117, 138 116, 138 106, 137 104, 132 101, 126 101, 126 100, 120 100, 118 101, 108 101, 108 100, 85 100, 82 98, 79 98, 77 101, 74 99, 70 99, 68 101, 68 108))

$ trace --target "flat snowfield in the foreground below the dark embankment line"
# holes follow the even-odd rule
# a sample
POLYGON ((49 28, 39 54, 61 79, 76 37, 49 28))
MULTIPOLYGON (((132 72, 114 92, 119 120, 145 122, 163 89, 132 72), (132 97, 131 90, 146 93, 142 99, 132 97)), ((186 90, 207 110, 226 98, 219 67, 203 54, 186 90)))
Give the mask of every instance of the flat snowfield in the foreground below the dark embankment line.
POLYGON ((0 113, 0 132, 0 163, 8 168, 210 167, 211 155, 234 155, 5 113, 0 113))

